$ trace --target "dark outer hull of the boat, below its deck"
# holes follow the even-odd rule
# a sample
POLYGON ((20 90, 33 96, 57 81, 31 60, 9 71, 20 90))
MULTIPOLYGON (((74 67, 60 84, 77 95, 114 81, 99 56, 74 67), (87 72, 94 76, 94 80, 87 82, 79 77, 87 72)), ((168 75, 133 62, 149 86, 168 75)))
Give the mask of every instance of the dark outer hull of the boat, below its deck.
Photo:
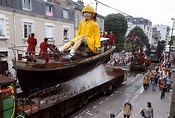
POLYGON ((98 65, 105 62, 114 49, 89 57, 79 62, 70 62, 60 68, 30 68, 29 66, 19 66, 20 62, 16 62, 17 78, 24 92, 33 89, 44 89, 69 81, 77 76, 87 73, 98 65), (73 64, 72 64, 73 63, 73 64), (19 64, 19 65, 18 65, 19 64))

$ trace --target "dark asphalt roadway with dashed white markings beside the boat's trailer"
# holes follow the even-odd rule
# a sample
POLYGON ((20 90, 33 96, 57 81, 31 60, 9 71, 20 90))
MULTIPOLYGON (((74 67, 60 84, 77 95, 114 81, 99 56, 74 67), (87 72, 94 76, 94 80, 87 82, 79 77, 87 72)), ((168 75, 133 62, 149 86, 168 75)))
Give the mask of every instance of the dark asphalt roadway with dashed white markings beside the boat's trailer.
POLYGON ((143 73, 128 72, 127 82, 113 90, 108 96, 97 96, 69 118, 109 118, 111 113, 120 113, 126 100, 132 100, 142 88, 143 73))

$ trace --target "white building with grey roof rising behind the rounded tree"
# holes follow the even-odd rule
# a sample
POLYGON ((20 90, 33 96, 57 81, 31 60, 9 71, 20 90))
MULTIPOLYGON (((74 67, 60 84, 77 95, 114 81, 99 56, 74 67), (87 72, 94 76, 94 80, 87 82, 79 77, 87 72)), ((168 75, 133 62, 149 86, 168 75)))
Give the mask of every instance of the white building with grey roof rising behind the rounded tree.
POLYGON ((145 34, 149 39, 149 43, 152 42, 152 22, 144 18, 136 18, 132 16, 127 16, 128 21, 128 30, 126 35, 136 26, 139 26, 143 29, 145 34))

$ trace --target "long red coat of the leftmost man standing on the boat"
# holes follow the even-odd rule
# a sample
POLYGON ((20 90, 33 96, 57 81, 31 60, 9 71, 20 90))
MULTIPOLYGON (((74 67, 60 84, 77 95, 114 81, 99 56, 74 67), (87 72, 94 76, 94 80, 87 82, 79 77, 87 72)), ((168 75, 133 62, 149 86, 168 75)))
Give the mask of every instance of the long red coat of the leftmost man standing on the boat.
POLYGON ((31 36, 28 38, 27 43, 28 43, 27 51, 29 52, 29 54, 31 53, 35 54, 35 46, 37 45, 37 39, 31 36))

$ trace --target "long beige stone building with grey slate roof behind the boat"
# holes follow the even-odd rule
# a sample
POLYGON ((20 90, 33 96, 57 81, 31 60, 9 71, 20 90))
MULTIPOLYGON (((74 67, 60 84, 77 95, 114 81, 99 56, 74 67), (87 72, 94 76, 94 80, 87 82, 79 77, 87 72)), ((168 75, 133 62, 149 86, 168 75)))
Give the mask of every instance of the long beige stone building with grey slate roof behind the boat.
POLYGON ((59 4, 43 0, 0 0, 0 54, 8 57, 1 60, 13 58, 9 47, 27 46, 31 33, 38 39, 37 46, 44 37, 49 43, 63 45, 75 36, 72 14, 59 4))

